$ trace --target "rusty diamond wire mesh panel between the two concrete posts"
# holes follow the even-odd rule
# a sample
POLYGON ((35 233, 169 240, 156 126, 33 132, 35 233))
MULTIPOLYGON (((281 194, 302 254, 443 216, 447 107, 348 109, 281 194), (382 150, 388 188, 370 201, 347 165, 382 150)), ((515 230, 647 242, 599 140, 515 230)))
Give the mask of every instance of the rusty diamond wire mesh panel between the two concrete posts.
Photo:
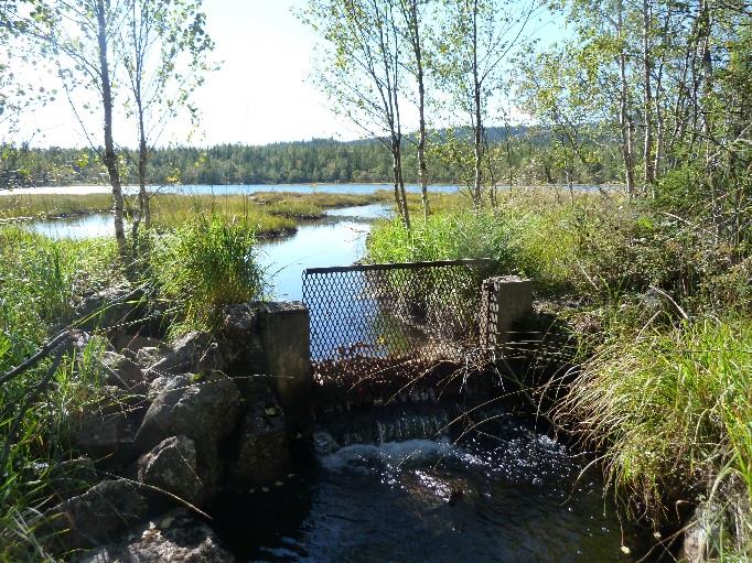
POLYGON ((406 359, 458 360, 479 340, 490 260, 452 260, 303 272, 314 375, 333 366, 373 372, 406 359))

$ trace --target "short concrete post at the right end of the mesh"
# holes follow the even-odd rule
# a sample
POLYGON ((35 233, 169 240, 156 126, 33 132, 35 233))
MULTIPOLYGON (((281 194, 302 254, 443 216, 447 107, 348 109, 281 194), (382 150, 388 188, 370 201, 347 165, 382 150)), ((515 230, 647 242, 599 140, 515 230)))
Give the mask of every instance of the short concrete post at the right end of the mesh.
POLYGON ((483 280, 480 336, 485 349, 503 348, 512 326, 528 315, 533 305, 533 282, 517 275, 483 280))

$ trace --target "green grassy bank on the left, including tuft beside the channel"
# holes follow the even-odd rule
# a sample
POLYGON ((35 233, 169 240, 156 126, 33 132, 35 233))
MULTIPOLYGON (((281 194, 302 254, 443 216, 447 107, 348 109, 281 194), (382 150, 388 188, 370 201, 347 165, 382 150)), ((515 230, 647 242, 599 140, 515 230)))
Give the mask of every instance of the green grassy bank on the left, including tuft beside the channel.
MULTIPOLYGON (((166 310, 172 334, 211 329, 225 304, 260 296, 254 245, 249 225, 201 217, 150 240, 130 283, 166 310)), ((76 424, 126 408, 104 385, 108 343, 96 334, 6 375, 75 322, 85 295, 126 281, 111 238, 52 241, 0 227, 0 561, 55 560, 40 531, 44 511, 101 478, 73 445, 76 424)))

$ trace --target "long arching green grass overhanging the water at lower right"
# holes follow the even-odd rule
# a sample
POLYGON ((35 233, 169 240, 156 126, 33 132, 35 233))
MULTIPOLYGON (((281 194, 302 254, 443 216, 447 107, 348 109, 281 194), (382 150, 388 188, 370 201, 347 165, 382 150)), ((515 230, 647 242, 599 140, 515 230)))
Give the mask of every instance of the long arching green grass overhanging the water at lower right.
POLYGON ((752 549, 752 320, 616 334, 584 362, 558 416, 656 522, 691 484, 719 502, 723 483, 743 484, 737 541, 752 549))

